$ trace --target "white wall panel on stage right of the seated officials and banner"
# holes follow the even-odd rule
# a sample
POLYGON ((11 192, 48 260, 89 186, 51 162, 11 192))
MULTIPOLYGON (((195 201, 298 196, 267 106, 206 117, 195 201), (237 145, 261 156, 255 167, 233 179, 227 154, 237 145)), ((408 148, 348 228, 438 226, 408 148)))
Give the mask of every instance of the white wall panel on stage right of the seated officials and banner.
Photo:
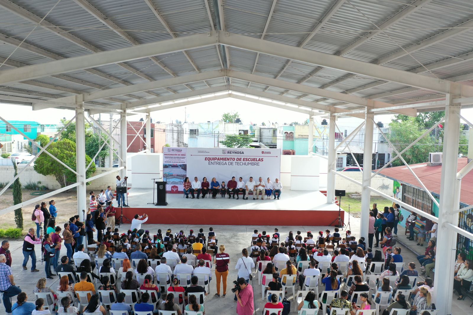
POLYGON ((319 190, 319 157, 292 156, 291 190, 319 190))

